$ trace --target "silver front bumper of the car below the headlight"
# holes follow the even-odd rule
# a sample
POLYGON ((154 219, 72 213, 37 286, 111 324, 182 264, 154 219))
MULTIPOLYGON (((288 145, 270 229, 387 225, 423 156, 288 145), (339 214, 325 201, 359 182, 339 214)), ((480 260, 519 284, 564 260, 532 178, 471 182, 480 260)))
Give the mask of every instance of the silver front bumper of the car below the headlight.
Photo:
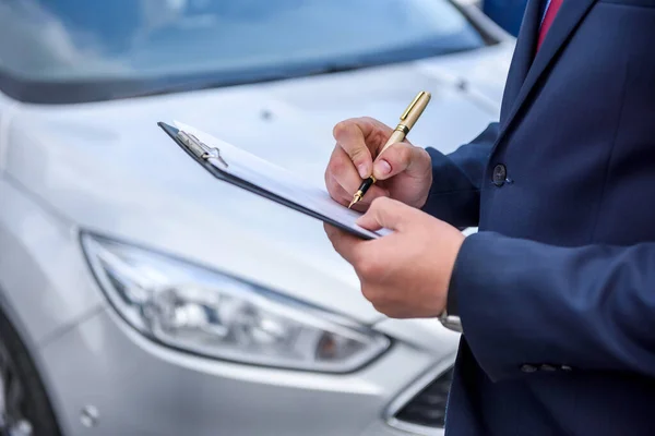
POLYGON ((240 365, 156 344, 111 308, 98 310, 41 353, 67 436, 414 434, 388 424, 389 408, 421 375, 445 370, 453 359, 396 342, 353 374, 240 365), (81 420, 90 407, 98 413, 91 429, 81 420))

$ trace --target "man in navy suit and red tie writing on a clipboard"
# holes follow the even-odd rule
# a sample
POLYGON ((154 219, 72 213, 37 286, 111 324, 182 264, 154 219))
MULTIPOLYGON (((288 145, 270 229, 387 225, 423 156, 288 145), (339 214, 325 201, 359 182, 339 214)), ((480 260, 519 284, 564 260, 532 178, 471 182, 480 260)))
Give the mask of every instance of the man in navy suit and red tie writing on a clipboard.
POLYGON ((331 195, 372 172, 360 223, 394 230, 326 226, 364 295, 461 318, 446 434, 655 435, 654 44, 655 0, 531 0, 500 122, 473 143, 373 166, 391 129, 335 126, 331 195))

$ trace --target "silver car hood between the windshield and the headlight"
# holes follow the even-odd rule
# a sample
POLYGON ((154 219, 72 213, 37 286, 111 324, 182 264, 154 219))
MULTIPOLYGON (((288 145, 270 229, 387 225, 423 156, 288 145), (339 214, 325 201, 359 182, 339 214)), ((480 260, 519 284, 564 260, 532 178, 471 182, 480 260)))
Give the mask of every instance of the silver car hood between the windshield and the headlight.
POLYGON ((409 138, 444 152, 498 117, 511 47, 420 62, 127 100, 16 105, 7 170, 83 229, 172 253, 364 323, 380 314, 322 223, 215 180, 157 126, 182 121, 322 183, 333 125, 395 124, 418 90, 432 101, 409 138), (462 80, 469 81, 462 86, 462 80))

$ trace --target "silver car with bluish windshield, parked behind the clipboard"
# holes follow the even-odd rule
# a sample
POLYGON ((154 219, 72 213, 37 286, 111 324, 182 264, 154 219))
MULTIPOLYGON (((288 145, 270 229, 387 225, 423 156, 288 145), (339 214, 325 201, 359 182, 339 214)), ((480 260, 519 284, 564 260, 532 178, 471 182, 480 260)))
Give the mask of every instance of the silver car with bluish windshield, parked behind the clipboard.
POLYGON ((513 39, 446 0, 4 0, 0 35, 0 434, 442 433, 458 336, 156 123, 322 183, 336 122, 418 90, 410 141, 471 140, 513 39))

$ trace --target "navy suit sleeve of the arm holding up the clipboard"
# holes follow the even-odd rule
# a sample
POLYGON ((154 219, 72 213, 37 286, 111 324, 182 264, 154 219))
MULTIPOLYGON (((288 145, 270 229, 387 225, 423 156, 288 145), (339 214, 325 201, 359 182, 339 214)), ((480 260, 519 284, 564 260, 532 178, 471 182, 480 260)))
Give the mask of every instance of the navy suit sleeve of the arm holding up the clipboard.
POLYGON ((570 249, 479 232, 451 288, 492 380, 529 376, 525 364, 655 377, 655 243, 570 249))

